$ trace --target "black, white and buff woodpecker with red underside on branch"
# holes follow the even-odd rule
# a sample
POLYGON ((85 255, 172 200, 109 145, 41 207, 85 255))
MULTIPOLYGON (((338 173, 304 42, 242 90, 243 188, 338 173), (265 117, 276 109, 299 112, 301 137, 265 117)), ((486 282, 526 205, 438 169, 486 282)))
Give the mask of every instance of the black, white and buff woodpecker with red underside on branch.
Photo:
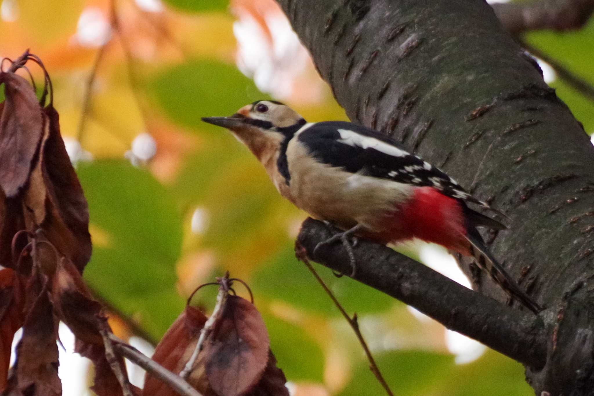
POLYGON ((354 265, 350 236, 384 244, 415 238, 434 242, 472 256, 507 294, 534 313, 541 311, 476 230, 506 227, 467 204, 500 212, 400 142, 350 122, 306 122, 274 100, 258 100, 232 116, 203 121, 229 129, 247 145, 283 197, 344 230, 318 246, 342 240, 354 265))

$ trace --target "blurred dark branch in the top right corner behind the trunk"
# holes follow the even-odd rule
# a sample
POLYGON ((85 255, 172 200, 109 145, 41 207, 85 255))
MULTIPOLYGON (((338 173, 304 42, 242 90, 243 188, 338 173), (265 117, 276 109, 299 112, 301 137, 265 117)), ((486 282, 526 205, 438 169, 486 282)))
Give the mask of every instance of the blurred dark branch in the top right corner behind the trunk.
POLYGON ((532 2, 492 4, 495 14, 510 31, 576 30, 584 26, 594 12, 593 0, 536 0, 532 2))

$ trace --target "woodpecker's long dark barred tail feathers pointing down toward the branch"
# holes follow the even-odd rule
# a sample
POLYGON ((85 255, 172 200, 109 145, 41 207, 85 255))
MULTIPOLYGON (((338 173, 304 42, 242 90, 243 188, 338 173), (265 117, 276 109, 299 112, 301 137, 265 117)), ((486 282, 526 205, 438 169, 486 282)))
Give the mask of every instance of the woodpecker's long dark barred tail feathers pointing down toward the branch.
POLYGON ((542 311, 541 306, 534 302, 526 292, 520 289, 520 286, 514 282, 510 275, 508 275, 501 264, 489 253, 482 242, 482 238, 478 235, 476 230, 469 232, 466 235, 466 239, 470 242, 470 252, 476 259, 476 264, 481 267, 482 270, 486 271, 505 293, 511 297, 519 300, 523 305, 530 309, 530 311, 537 313, 542 311))

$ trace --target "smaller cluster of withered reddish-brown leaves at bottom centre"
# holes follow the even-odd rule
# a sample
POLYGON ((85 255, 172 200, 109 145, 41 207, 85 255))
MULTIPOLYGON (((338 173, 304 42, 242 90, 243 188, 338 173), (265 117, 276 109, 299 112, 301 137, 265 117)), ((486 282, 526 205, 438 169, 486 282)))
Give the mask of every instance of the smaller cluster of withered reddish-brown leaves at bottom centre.
MULTIPOLYGON (((223 287, 223 286, 222 286, 223 287)), ((153 359, 181 372, 207 322, 204 313, 187 306, 157 346, 153 359)), ((187 378, 204 396, 289 396, 286 378, 276 367, 268 332, 255 306, 228 294, 187 378)), ((147 373, 143 395, 175 396, 147 373)))

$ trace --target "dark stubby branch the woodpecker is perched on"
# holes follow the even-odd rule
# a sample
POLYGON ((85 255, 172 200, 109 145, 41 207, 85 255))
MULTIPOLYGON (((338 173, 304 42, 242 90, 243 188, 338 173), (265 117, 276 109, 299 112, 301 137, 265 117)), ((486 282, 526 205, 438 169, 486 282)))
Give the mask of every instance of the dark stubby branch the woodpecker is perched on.
MULTIPOLYGON (((317 243, 330 236, 324 223, 308 218, 297 241, 313 261, 350 274, 349 256, 342 243, 320 246, 314 255, 317 243)), ((412 305, 448 329, 474 338, 518 362, 536 369, 544 366, 544 325, 532 312, 510 309, 377 243, 360 240, 353 253, 357 262, 353 279, 412 305)))

